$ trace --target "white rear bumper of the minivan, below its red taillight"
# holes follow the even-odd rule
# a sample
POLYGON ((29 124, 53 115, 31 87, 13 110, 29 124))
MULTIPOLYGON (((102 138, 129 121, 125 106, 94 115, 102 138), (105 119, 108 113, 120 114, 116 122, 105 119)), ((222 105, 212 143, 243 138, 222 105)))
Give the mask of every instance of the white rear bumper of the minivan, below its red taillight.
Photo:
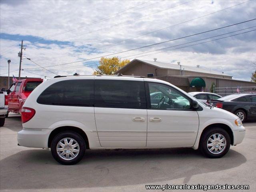
POLYGON ((18 132, 18 145, 34 148, 48 148, 51 129, 24 129, 18 132))

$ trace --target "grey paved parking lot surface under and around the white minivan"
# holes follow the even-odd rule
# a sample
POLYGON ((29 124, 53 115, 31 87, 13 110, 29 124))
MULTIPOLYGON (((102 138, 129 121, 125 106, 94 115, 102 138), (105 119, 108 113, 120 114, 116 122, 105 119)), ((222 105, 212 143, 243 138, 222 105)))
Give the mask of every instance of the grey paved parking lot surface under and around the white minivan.
POLYGON ((254 192, 256 122, 244 126, 242 144, 220 159, 189 148, 87 150, 79 164, 64 166, 48 150, 17 146, 22 124, 20 116, 10 115, 0 128, 0 190, 112 192, 146 191, 145 184, 246 184, 250 190, 245 191, 254 192))

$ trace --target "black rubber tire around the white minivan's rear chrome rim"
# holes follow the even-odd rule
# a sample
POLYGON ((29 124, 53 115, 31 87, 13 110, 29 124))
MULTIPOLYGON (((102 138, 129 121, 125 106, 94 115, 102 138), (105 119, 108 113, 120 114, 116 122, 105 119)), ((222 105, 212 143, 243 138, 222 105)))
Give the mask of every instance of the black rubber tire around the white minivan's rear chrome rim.
POLYGON ((58 161, 59 163, 61 163, 63 165, 74 165, 74 164, 78 163, 84 157, 85 150, 86 150, 86 144, 85 144, 84 139, 79 134, 77 134, 76 132, 72 132, 72 131, 66 131, 66 132, 59 133, 58 135, 56 135, 53 138, 52 143, 51 143, 52 156, 54 157, 54 159, 56 161, 58 161), (78 152, 77 156, 72 160, 64 160, 58 155, 57 145, 64 138, 74 139, 79 145, 79 152, 78 152))

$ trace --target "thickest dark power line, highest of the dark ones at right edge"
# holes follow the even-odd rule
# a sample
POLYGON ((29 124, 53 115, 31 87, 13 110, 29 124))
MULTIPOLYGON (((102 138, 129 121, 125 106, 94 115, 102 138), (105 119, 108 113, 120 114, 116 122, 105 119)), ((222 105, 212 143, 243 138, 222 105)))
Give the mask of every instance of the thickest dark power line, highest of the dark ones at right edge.
MULTIPOLYGON (((236 23, 236 24, 232 24, 232 25, 228 25, 228 26, 224 26, 224 27, 220 27, 220 28, 215 28, 215 29, 212 29, 212 30, 208 30, 208 31, 204 31, 204 32, 200 32, 200 33, 196 33, 196 34, 192 34, 192 35, 188 35, 188 36, 183 36, 183 37, 180 37, 180 38, 175 38, 175 39, 171 39, 171 40, 167 40, 167 41, 163 41, 163 42, 159 42, 159 43, 155 43, 155 44, 150 44, 150 45, 146 45, 146 46, 142 46, 142 47, 138 47, 138 48, 134 48, 134 49, 130 49, 130 50, 116 52, 116 53, 113 53, 113 54, 107 54, 107 55, 104 55, 104 56, 94 57, 94 58, 90 58, 90 59, 83 59, 83 60, 80 60, 80 61, 69 62, 69 63, 58 64, 58 65, 45 66, 45 67, 61 66, 61 65, 66 65, 66 64, 78 63, 78 62, 83 62, 83 61, 87 61, 87 60, 92 60, 92 59, 97 59, 97 58, 101 58, 101 57, 106 57, 106 56, 111 56, 111 55, 115 55, 115 54, 120 54, 120 53, 124 53, 124 52, 129 52, 129 51, 133 51, 133 50, 138 50, 138 49, 141 49, 141 48, 155 46, 155 45, 158 45, 158 44, 163 44, 163 43, 174 41, 174 40, 179 40, 179 39, 183 39, 183 38, 187 38, 187 37, 191 37, 191 36, 196 36, 196 35, 199 35, 199 34, 204 34, 204 33, 207 33, 207 32, 211 32, 211 31, 227 28, 227 27, 230 27, 230 26, 235 26, 235 25, 246 23, 246 22, 250 22, 250 21, 253 21, 253 20, 256 20, 256 19, 251 19, 251 20, 239 22, 239 23, 236 23)), ((32 69, 32 68, 30 68, 30 69, 32 69)))

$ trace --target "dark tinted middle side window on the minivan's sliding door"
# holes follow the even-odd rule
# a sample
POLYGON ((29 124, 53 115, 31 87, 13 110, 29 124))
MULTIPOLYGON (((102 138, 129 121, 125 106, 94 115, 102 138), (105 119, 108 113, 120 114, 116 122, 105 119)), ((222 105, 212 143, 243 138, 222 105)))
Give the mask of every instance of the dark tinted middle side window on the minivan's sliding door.
POLYGON ((146 109, 144 82, 95 80, 95 107, 146 109))

